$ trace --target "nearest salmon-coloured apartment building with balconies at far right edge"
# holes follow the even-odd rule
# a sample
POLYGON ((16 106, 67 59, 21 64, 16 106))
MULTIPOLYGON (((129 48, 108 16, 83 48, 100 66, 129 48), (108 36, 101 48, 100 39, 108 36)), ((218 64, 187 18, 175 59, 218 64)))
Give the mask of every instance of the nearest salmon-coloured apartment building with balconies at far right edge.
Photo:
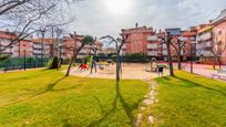
POLYGON ((226 9, 212 22, 197 27, 196 55, 201 63, 213 64, 214 54, 223 52, 222 62, 226 64, 226 9), (219 45, 220 43, 220 45, 219 45))

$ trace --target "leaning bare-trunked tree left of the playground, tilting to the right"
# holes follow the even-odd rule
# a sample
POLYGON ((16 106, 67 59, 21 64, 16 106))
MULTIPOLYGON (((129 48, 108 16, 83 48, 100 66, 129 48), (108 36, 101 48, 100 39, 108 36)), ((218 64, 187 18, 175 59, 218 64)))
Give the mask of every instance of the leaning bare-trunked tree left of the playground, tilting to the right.
POLYGON ((66 75, 70 75, 70 71, 72 67, 72 64, 74 63, 74 61, 76 60, 80 51, 85 46, 85 45, 90 45, 90 44, 94 44, 95 43, 95 39, 93 39, 91 35, 86 35, 84 36, 81 41, 78 41, 78 35, 76 32, 74 32, 74 34, 70 34, 70 36, 74 40, 74 47, 73 47, 73 56, 71 59, 71 62, 69 64, 68 71, 66 71, 66 75), (79 45, 79 46, 78 46, 79 45))

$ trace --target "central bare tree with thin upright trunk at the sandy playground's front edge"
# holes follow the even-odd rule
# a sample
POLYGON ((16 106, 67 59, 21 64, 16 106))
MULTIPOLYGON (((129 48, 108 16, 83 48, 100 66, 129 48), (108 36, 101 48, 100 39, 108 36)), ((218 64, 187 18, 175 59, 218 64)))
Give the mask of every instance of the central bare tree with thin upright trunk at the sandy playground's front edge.
POLYGON ((110 40, 110 44, 111 43, 115 43, 115 47, 116 47, 116 82, 120 82, 120 72, 122 72, 122 56, 121 56, 121 52, 122 52, 122 47, 123 45, 126 43, 126 35, 121 34, 121 38, 114 39, 111 35, 106 35, 101 38, 103 39, 109 39, 110 40))

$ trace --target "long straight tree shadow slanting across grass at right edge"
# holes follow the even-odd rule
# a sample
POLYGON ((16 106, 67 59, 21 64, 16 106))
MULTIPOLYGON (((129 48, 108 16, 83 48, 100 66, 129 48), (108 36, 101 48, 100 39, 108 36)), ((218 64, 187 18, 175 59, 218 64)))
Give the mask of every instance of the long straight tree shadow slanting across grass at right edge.
POLYGON ((213 92, 216 92, 218 94, 222 94, 222 95, 226 96, 226 93, 223 92, 223 91, 219 91, 219 89, 216 89, 216 88, 213 88, 213 87, 208 87, 208 86, 205 86, 203 84, 199 84, 199 83, 196 83, 196 82, 193 82, 193 81, 189 81, 189 80, 185 80, 185 78, 182 78, 182 77, 178 77, 178 76, 175 76, 175 78, 181 80, 181 81, 183 81, 183 82, 185 82, 187 84, 192 84, 192 85, 197 86, 197 87, 203 87, 205 89, 209 89, 209 91, 213 91, 213 92))

